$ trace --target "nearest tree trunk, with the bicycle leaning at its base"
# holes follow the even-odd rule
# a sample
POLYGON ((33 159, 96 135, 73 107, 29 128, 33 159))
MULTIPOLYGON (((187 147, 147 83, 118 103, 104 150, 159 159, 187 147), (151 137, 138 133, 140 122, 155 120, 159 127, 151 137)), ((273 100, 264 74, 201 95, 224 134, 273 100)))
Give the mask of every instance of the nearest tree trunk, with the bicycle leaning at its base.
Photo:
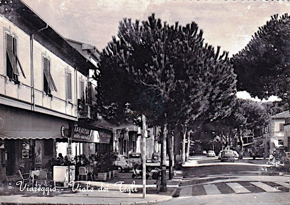
MULTIPOLYGON (((166 114, 164 115, 166 118, 166 114)), ((160 169, 166 169, 166 137, 167 137, 167 120, 165 119, 164 125, 162 125, 161 134, 161 154, 160 154, 160 169)), ((160 191, 166 192, 166 170, 161 171, 161 184, 160 191)))

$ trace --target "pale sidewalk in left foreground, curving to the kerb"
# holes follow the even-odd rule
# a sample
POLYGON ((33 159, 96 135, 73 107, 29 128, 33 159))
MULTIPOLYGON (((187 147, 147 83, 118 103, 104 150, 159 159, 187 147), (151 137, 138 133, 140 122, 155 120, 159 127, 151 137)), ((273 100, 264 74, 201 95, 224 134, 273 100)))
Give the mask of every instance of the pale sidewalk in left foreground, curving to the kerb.
MULTIPOLYGON (((75 183, 74 189, 58 189, 55 193, 42 195, 38 192, 23 191, 18 188, 17 193, 0 196, 0 204, 153 204, 168 201, 177 191, 181 182, 181 172, 173 180, 166 180, 167 192, 156 194, 156 180, 146 180, 146 198, 142 198, 142 179, 132 178, 132 172, 119 173, 118 177, 110 179, 108 182, 87 182, 79 181, 75 183), (122 181, 124 184, 116 186, 115 182, 122 181), (135 185, 132 183, 135 181, 135 185), (77 187, 78 186, 78 187, 77 187), (102 188, 101 188, 102 187, 102 188), (108 191, 104 190, 108 188, 108 191), (121 189, 121 191, 120 191, 121 189), (126 191, 124 191, 126 189, 126 191), (80 191, 81 190, 81 191, 80 191), (137 193, 135 192, 137 190, 137 193), (131 192, 129 194, 129 191, 131 192), (133 192, 134 191, 134 192, 133 192)), ((166 174, 168 177, 168 173, 166 174)), ((7 193, 7 192, 6 192, 7 193)))

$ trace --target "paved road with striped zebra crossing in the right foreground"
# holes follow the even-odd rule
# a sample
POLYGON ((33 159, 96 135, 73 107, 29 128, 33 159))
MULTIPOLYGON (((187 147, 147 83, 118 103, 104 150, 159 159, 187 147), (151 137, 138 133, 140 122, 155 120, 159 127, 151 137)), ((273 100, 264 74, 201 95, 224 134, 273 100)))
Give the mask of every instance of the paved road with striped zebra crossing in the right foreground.
POLYGON ((159 204, 290 204, 290 174, 271 172, 266 162, 195 156, 174 198, 159 204))

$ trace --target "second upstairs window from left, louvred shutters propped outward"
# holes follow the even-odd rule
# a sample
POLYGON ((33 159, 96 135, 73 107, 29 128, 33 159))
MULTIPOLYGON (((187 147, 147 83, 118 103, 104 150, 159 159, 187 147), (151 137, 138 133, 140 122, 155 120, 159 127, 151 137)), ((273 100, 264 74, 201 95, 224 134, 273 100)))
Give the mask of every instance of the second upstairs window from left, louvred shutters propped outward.
POLYGON ((51 62, 50 59, 46 58, 43 56, 42 58, 42 63, 43 63, 43 91, 48 95, 48 96, 52 96, 51 95, 51 91, 56 91, 56 86, 55 83, 52 79, 50 70, 51 70, 51 62))

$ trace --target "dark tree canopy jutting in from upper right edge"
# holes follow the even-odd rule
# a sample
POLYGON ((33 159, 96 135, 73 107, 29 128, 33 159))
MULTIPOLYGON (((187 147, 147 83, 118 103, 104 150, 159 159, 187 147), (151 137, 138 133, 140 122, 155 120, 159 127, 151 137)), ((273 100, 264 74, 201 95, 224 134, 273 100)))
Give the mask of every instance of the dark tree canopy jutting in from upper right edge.
POLYGON ((231 62, 238 74, 238 91, 252 97, 274 95, 290 103, 290 17, 278 14, 252 36, 231 62))

